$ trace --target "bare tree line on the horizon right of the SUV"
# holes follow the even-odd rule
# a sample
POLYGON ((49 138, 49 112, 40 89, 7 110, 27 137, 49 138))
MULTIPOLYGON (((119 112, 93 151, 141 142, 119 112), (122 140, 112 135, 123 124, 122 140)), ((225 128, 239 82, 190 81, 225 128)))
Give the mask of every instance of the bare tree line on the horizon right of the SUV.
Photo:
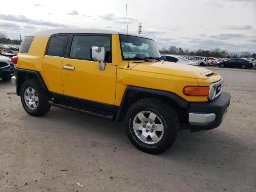
POLYGON ((228 52, 228 50, 221 50, 220 48, 214 48, 211 50, 193 50, 189 49, 183 50, 181 47, 176 47, 171 45, 166 48, 163 47, 160 50, 162 54, 175 54, 175 55, 188 55, 188 56, 206 56, 206 57, 217 57, 217 58, 241 58, 241 57, 252 57, 256 58, 256 53, 251 54, 250 52, 228 52))

